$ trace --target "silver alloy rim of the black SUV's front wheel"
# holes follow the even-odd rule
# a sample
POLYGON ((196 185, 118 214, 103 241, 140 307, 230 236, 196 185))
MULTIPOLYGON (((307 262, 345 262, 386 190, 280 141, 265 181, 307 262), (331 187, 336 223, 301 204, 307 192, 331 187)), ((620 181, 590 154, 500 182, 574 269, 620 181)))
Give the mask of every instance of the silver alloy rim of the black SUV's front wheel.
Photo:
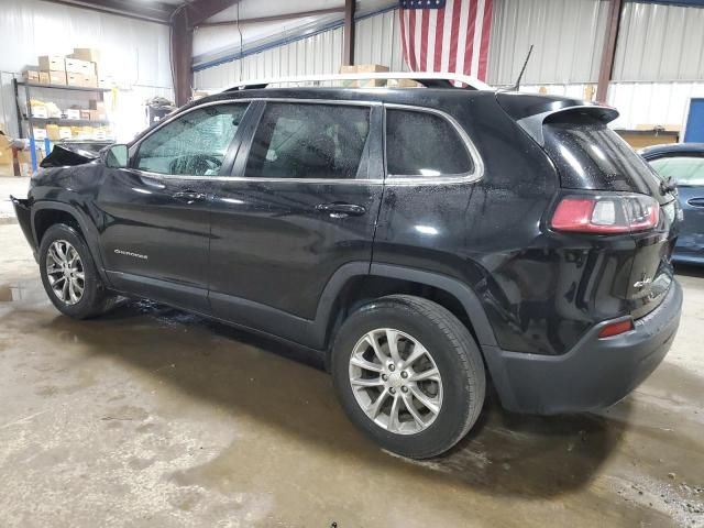
POLYGON ((46 276, 58 300, 68 306, 80 301, 86 287, 86 274, 78 251, 69 242, 52 242, 46 252, 46 276))

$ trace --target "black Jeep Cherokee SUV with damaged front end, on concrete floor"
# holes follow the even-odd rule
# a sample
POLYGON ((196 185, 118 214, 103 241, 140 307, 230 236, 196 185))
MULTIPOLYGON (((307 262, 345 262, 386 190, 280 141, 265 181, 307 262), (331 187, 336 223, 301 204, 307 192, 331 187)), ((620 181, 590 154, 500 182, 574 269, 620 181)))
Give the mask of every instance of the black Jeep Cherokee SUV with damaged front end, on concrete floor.
MULTIPOLYGON (((666 355, 678 201, 565 98, 232 89, 14 199, 72 317, 155 299, 318 351, 351 420, 433 457, 476 421, 597 409, 666 355)), ((73 166, 67 166, 74 163, 73 166)))

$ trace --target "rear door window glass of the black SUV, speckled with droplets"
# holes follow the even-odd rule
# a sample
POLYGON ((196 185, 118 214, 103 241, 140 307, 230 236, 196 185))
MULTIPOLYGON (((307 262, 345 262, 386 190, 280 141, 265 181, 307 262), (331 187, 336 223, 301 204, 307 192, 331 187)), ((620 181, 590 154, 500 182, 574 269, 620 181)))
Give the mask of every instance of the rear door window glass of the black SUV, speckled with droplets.
POLYGON ((245 175, 355 178, 369 132, 367 107, 267 102, 245 175))

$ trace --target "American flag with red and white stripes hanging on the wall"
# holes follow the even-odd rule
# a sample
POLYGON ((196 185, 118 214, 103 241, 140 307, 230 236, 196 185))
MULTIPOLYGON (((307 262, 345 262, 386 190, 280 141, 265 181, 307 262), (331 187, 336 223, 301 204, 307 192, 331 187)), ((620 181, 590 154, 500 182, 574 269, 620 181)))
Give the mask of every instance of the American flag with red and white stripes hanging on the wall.
POLYGON ((399 0, 404 59, 411 72, 486 79, 492 0, 399 0))

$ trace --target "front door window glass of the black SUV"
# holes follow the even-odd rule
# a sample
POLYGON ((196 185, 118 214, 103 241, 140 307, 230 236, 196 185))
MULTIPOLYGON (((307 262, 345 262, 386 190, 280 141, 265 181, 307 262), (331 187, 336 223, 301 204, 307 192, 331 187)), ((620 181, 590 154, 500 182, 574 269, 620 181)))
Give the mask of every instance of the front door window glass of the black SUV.
POLYGON ((245 103, 238 103, 185 113, 142 142, 135 167, 158 174, 217 176, 245 110, 245 103))

